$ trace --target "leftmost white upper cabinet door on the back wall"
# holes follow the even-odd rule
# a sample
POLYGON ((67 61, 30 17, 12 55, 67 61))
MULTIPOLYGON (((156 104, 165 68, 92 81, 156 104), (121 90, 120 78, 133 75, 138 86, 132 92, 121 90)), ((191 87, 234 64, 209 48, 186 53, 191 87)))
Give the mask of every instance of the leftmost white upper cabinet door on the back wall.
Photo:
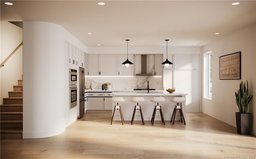
POLYGON ((88 57, 88 75, 98 76, 100 75, 100 64, 99 64, 100 55, 90 54, 88 57))

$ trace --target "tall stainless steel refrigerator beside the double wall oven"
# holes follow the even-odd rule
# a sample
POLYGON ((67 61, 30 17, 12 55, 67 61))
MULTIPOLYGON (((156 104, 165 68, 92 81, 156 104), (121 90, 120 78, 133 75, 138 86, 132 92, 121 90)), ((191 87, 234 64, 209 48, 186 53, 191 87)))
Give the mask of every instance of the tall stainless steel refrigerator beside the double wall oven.
POLYGON ((84 115, 84 68, 79 67, 79 115, 82 117, 84 115))

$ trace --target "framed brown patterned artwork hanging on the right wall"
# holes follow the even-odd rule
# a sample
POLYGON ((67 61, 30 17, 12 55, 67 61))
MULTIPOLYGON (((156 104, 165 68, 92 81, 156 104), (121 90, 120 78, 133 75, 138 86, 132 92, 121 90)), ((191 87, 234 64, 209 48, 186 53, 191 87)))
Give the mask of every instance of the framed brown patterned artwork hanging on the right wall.
POLYGON ((241 52, 220 56, 220 79, 241 79, 241 52))

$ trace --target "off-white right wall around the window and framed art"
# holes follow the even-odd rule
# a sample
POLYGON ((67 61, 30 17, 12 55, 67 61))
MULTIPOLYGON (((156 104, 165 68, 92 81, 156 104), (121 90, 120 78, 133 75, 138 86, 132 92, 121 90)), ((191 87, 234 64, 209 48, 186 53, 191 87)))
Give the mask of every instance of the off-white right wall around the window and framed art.
POLYGON ((219 79, 219 57, 241 51, 241 79, 248 80, 249 92, 254 95, 248 109, 253 114, 253 135, 256 135, 255 30, 254 24, 202 47, 202 53, 212 51, 212 100, 202 99, 202 112, 236 127, 235 91, 241 80, 219 79))

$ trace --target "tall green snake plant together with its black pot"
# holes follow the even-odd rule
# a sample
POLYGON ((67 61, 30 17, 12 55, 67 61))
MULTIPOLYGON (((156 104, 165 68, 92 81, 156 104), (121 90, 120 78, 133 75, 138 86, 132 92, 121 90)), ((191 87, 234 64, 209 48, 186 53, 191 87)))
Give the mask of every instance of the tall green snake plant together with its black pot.
POLYGON ((241 135, 250 135, 252 128, 252 114, 247 113, 247 110, 253 95, 249 95, 248 81, 246 82, 247 87, 245 82, 241 81, 238 92, 235 92, 236 104, 239 109, 239 112, 236 112, 236 128, 237 133, 241 135))

